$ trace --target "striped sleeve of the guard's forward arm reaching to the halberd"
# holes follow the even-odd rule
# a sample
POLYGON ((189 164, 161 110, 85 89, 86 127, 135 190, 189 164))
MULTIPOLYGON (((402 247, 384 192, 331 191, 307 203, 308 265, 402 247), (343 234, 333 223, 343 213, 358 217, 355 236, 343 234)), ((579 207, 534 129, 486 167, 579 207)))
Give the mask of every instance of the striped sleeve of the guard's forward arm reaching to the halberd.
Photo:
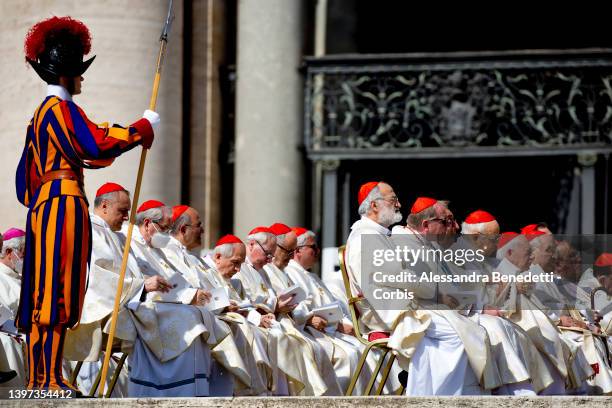
POLYGON ((96 124, 72 101, 56 104, 47 115, 47 130, 56 147, 66 159, 81 165, 117 157, 153 135, 151 124, 144 118, 128 127, 96 124))

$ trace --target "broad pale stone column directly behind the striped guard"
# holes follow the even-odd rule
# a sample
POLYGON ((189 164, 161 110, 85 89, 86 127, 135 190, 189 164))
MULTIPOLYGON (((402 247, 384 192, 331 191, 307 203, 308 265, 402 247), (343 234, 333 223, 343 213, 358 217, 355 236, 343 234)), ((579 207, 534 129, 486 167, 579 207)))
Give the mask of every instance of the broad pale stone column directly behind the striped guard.
MULTIPOLYGON (((83 94, 75 96, 94 122, 128 125, 138 120, 149 106, 165 21, 166 0, 77 1, 8 0, 0 2, 0 161, 4 171, 0 185, 0 229, 25 226, 27 209, 15 196, 15 169, 25 140, 26 126, 46 95, 46 84, 24 62, 23 40, 37 21, 56 15, 82 20, 92 33, 96 60, 84 74, 83 94)), ((141 201, 156 198, 169 205, 180 197, 182 8, 174 2, 176 18, 170 34, 168 54, 158 95, 157 111, 162 125, 147 157, 141 201)), ((86 193, 93 203, 95 190, 106 181, 128 190, 136 185, 140 148, 119 157, 106 169, 85 172, 86 193)))

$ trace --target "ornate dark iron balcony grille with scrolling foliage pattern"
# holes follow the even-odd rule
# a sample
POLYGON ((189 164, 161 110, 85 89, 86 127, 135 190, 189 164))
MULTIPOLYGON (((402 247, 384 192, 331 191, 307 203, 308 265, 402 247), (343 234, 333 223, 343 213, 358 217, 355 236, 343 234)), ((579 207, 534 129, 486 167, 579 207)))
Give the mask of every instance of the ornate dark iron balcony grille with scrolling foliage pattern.
POLYGON ((612 50, 305 59, 312 159, 612 151, 612 50))

